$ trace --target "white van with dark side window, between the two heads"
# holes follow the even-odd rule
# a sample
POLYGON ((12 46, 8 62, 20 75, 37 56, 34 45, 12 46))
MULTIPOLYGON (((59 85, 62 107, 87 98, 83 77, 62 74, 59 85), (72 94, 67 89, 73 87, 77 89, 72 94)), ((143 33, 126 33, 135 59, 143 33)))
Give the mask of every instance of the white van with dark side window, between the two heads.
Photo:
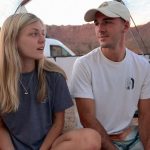
POLYGON ((75 56, 75 53, 72 52, 62 42, 56 39, 46 38, 44 55, 46 57, 67 57, 75 56))

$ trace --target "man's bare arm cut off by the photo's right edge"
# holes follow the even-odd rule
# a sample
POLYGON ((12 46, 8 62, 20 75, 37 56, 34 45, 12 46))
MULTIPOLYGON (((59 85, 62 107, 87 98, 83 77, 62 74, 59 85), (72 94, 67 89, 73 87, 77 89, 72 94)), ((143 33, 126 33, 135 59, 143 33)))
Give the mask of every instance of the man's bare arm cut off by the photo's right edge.
POLYGON ((150 99, 139 100, 139 133, 144 150, 150 150, 150 99))

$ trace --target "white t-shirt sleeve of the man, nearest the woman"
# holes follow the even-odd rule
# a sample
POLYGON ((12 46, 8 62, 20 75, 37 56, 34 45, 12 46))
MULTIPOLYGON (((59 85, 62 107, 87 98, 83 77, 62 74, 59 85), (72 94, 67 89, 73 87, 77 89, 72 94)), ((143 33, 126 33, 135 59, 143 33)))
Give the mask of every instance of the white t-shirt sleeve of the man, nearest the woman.
POLYGON ((73 98, 93 99, 91 71, 87 64, 77 59, 73 66, 70 92, 73 98))

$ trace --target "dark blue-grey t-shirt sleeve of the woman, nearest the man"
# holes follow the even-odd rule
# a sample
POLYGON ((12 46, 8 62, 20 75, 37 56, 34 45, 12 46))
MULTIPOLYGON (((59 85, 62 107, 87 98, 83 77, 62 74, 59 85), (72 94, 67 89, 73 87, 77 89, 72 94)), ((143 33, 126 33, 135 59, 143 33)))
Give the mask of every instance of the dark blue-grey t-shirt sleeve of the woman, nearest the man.
POLYGON ((65 78, 58 74, 55 84, 54 112, 64 111, 73 105, 65 78))

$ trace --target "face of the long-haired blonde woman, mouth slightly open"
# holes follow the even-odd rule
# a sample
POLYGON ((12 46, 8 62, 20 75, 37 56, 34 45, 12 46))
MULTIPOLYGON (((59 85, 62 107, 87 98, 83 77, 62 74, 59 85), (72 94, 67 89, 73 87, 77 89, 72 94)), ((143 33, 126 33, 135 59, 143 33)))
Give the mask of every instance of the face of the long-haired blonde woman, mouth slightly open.
POLYGON ((22 61, 39 60, 44 56, 45 27, 38 21, 23 28, 17 39, 22 61))

